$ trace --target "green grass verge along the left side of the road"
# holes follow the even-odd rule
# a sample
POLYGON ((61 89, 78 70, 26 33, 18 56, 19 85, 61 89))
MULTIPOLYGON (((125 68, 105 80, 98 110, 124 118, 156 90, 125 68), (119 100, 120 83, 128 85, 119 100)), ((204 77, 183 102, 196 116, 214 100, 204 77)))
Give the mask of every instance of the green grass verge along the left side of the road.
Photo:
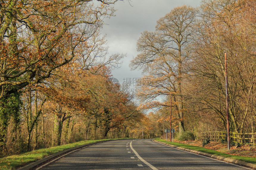
MULTIPOLYGON (((131 139, 131 138, 121 138, 121 139, 131 139)), ((80 141, 80 142, 65 144, 57 147, 33 150, 31 152, 26 152, 20 155, 12 155, 8 157, 0 158, 0 169, 1 170, 17 169, 21 166, 25 166, 29 163, 43 159, 46 156, 55 154, 57 152, 60 152, 69 148, 77 147, 83 144, 98 142, 98 141, 105 141, 105 140, 116 140, 116 139, 80 141)))

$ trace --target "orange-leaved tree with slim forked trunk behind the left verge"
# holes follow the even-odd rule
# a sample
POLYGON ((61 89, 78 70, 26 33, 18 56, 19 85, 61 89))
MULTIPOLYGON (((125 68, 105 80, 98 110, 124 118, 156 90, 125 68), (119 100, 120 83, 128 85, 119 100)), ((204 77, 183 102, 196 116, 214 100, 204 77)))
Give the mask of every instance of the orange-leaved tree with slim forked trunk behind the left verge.
POLYGON ((81 69, 79 64, 67 64, 56 69, 40 88, 48 98, 47 108, 55 117, 57 145, 61 143, 63 122, 72 115, 85 114, 91 98, 102 96, 102 90, 96 85, 100 77, 81 69))

